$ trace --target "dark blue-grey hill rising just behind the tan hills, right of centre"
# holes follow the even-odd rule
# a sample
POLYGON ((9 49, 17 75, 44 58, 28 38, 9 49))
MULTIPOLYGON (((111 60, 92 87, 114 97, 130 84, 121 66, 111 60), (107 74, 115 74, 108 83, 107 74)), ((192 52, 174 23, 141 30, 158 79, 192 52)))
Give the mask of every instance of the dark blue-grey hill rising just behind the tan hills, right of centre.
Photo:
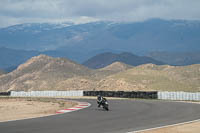
POLYGON ((145 56, 136 56, 131 53, 120 53, 120 54, 114 54, 114 53, 102 53, 98 54, 91 59, 87 60, 83 63, 83 65, 93 68, 93 69, 99 69, 106 67, 114 62, 122 62, 128 65, 132 66, 138 66, 142 64, 157 64, 157 65, 163 65, 164 63, 161 61, 156 61, 150 57, 145 56))

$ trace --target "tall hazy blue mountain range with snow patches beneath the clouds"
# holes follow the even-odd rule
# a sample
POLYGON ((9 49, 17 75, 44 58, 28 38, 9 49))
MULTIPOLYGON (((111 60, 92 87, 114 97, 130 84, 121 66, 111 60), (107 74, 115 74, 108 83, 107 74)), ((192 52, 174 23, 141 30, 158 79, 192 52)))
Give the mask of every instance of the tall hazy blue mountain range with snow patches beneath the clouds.
MULTIPOLYGON (((102 52, 200 51, 200 21, 20 24, 0 29, 0 47, 65 53, 78 62, 102 52)), ((114 52, 115 53, 115 52, 114 52)))

